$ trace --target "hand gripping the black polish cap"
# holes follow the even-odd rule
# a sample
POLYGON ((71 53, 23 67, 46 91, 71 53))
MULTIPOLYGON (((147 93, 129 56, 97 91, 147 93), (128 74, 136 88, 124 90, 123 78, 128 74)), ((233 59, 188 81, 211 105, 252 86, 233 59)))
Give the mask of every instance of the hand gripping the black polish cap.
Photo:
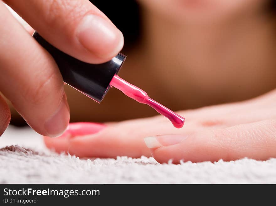
MULTIPOLYGON (((5 0, 58 49, 89 63, 109 61, 123 47, 122 33, 88 0, 5 0)), ((38 133, 60 135, 70 119, 59 69, 0 1, 0 91, 38 133)), ((10 121, 0 95, 0 135, 10 121)))

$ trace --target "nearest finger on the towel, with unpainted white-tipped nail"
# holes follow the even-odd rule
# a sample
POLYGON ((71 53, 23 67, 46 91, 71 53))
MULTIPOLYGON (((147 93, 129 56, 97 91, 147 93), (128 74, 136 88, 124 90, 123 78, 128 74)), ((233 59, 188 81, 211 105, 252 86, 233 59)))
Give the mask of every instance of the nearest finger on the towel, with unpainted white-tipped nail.
POLYGON ((267 160, 276 157, 276 121, 263 120, 192 135, 147 137, 145 143, 160 163, 231 161, 243 157, 267 160))

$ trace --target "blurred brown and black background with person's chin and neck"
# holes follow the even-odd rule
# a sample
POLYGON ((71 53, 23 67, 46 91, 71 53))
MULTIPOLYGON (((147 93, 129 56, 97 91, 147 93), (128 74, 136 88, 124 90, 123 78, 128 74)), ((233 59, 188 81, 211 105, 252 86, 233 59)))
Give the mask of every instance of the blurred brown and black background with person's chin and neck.
MULTIPOLYGON (((122 31, 119 76, 177 111, 276 87, 276 0, 91 0, 122 31)), ((157 115, 113 88, 98 104, 66 85, 71 122, 157 115)), ((12 124, 26 123, 12 109, 12 124)))

